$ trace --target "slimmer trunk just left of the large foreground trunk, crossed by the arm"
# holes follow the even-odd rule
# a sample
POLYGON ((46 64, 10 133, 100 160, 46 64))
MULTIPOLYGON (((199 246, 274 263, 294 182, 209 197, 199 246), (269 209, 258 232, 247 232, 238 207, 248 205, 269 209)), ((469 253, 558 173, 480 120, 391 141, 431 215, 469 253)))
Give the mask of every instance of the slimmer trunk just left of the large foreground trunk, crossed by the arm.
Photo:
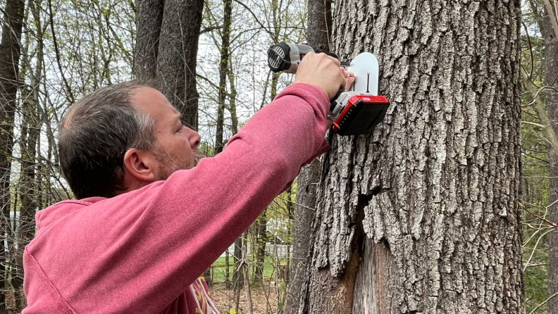
MULTIPOLYGON (((306 40, 309 44, 330 50, 331 2, 328 0, 308 1, 308 26, 306 40)), ((312 244, 312 220, 316 207, 316 187, 320 180, 320 160, 316 158, 300 171, 297 178, 297 205, 294 208, 292 233, 292 261, 289 268, 287 304, 285 314, 294 314, 306 303, 309 251, 312 244)))

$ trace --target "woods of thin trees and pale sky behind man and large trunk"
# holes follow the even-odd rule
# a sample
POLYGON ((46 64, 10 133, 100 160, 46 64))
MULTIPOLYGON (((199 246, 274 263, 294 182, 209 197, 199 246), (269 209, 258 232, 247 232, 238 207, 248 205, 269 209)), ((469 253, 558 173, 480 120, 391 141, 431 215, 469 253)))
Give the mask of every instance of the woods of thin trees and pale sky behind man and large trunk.
MULTIPOLYGON (((558 147, 552 130, 558 118, 558 65, 553 65, 558 58, 558 14, 553 1, 521 3, 520 207, 526 313, 558 313, 549 306, 558 299, 557 289, 550 288, 552 282, 558 284, 558 274, 549 272, 552 250, 558 249, 552 239, 558 227, 558 186, 552 184, 551 176, 557 158, 553 148, 558 147)), ((306 42, 309 37, 319 42, 323 39, 309 35, 316 30, 312 18, 323 16, 326 22, 335 18, 331 9, 335 3, 310 0, 175 2, 173 11, 170 4, 163 9, 162 1, 0 0, 0 108, 4 116, 0 313, 18 313, 25 306, 22 251, 35 234, 35 213, 72 197, 59 171, 56 144, 58 123, 72 103, 99 87, 145 73, 166 75, 166 82, 182 80, 187 82, 182 96, 171 102, 186 113, 184 123, 202 135, 204 156, 214 156, 294 79, 268 70, 268 47, 275 42, 306 42), (199 12, 198 25, 198 15, 188 15, 188 10, 199 12), (159 16, 159 26, 149 25, 157 20, 153 15, 159 16), (180 23, 193 25, 191 33, 172 41, 173 25, 180 23), (144 31, 146 27, 149 32, 144 31), (157 44, 149 42, 146 33, 157 44), (186 42, 187 36, 195 42, 186 42), (150 47, 156 45, 158 52, 149 55, 150 47), (177 61, 176 51, 195 53, 193 66, 186 54, 178 54, 185 58, 177 61), (180 74, 173 66, 187 70, 180 74), (180 99, 187 101, 180 103, 180 99)), ((325 25, 327 38, 331 22, 325 25)), ((321 45, 327 45, 327 40, 321 45)), ((305 193, 312 194, 312 189, 312 184, 304 184, 305 193)), ((286 303, 298 280, 297 265, 305 260, 292 253, 294 234, 301 232, 296 230, 302 219, 297 213, 314 210, 297 206, 300 203, 295 183, 206 271, 204 277, 223 312, 294 313, 296 309, 286 303)), ((554 263, 558 265, 558 260, 554 263)))

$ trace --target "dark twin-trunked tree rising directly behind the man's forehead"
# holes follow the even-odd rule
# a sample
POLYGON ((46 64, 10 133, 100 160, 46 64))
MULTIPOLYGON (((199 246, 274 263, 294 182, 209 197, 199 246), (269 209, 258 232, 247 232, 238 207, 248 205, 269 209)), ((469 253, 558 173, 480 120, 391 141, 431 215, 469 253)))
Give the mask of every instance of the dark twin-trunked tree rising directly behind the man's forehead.
POLYGON ((138 0, 134 73, 156 77, 161 92, 197 130, 196 63, 203 0, 138 0))

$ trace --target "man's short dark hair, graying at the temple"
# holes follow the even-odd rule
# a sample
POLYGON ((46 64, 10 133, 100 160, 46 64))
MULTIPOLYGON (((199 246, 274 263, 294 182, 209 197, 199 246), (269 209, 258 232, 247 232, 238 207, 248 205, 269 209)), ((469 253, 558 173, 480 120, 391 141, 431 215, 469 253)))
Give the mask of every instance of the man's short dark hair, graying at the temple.
POLYGON ((156 146, 155 122, 130 99, 154 81, 132 80, 97 89, 70 108, 58 130, 61 170, 75 197, 112 197, 124 186, 128 149, 156 146))

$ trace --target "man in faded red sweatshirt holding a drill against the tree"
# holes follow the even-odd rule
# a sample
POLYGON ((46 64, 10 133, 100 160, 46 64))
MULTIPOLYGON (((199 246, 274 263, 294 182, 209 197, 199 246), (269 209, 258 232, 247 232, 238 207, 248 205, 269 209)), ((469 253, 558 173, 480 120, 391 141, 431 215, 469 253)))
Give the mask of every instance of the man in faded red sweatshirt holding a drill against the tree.
POLYGON ((36 215, 23 313, 218 313, 197 277, 328 149, 346 74, 307 55, 294 84, 196 167, 199 134, 156 89, 132 81, 77 101, 59 132, 77 200, 36 215))

